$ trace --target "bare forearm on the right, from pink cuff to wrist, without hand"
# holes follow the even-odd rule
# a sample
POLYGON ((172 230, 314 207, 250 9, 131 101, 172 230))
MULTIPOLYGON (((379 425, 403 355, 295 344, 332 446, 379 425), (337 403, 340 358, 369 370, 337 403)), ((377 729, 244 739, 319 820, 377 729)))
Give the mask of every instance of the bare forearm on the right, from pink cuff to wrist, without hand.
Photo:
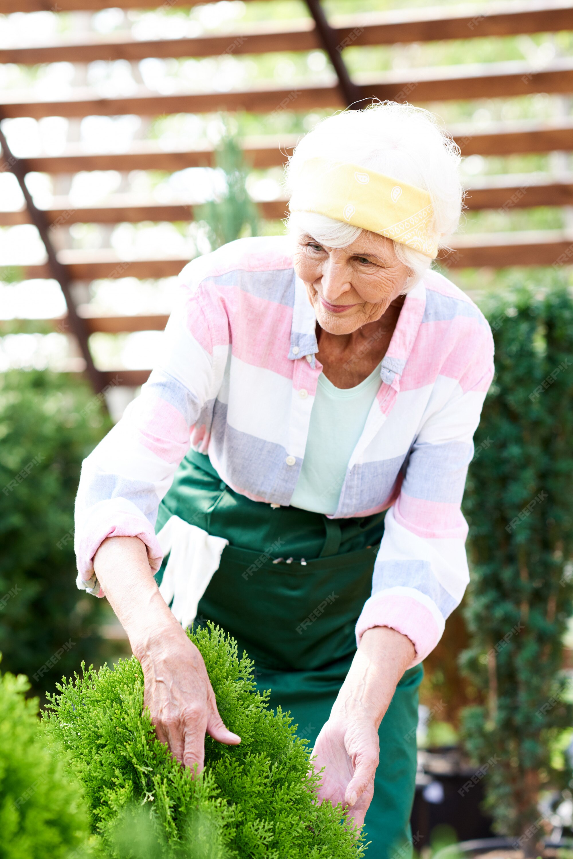
POLYGON ((365 716, 378 728, 398 681, 415 655, 413 643, 401 632, 388 626, 366 630, 336 698, 333 713, 346 717, 365 716))

